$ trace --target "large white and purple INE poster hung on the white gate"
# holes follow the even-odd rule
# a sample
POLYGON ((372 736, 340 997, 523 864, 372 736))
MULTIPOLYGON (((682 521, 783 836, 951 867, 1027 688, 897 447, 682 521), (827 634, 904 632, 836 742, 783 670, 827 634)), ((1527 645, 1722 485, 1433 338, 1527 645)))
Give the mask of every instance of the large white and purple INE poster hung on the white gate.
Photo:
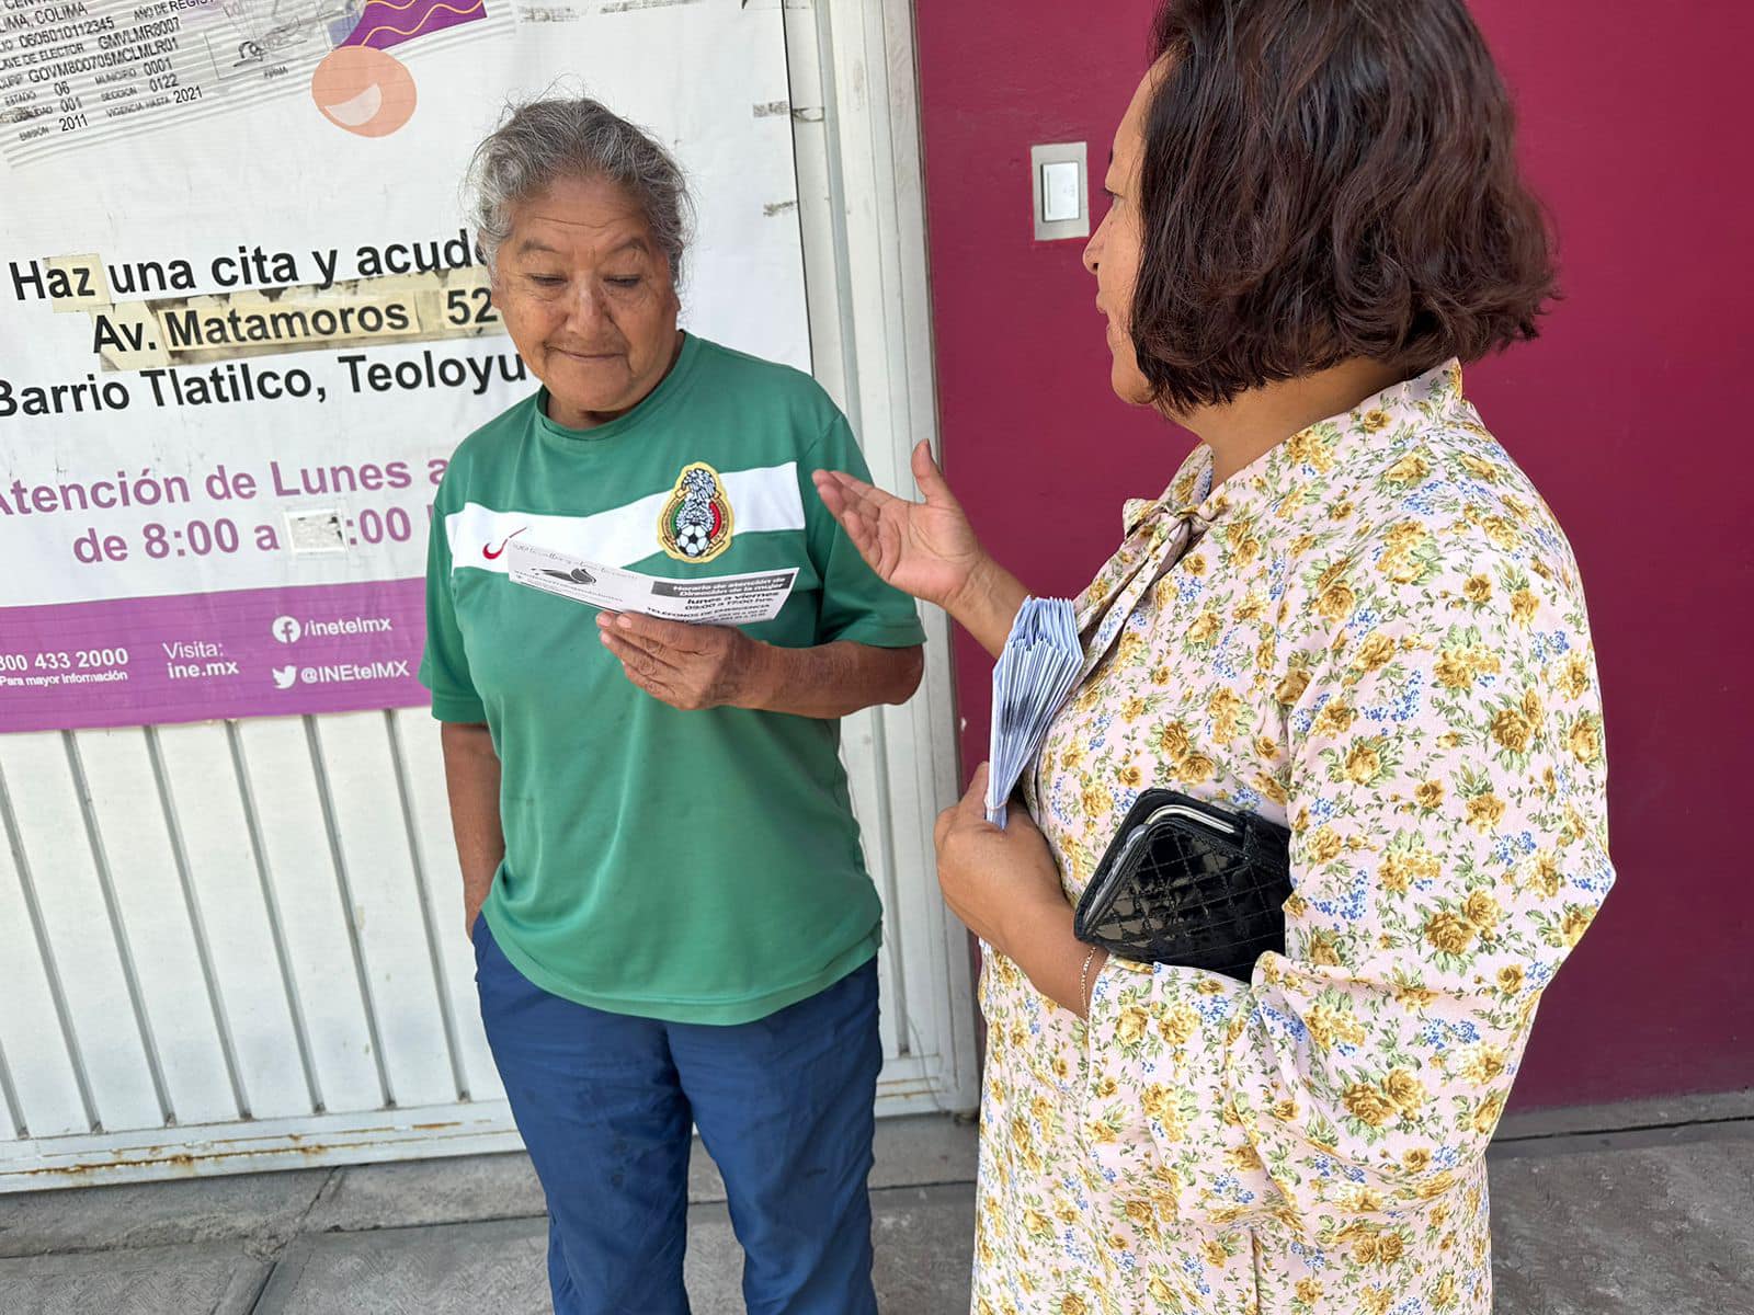
POLYGON ((779 0, 0 0, 0 731, 423 703, 433 491, 535 387, 460 182, 665 140, 684 324, 809 368, 779 0))

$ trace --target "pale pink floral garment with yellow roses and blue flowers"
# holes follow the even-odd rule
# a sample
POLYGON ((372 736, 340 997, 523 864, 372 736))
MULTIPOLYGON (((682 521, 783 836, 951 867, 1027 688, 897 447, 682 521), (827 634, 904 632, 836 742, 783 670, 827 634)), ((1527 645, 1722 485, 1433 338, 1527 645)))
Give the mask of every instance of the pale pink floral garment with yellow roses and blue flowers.
POLYGON ((1249 984, 989 952, 980 1315, 1486 1315, 1484 1152, 1614 882, 1570 547, 1451 363, 1130 503, 1031 812, 1077 899, 1152 787, 1293 831, 1249 984))

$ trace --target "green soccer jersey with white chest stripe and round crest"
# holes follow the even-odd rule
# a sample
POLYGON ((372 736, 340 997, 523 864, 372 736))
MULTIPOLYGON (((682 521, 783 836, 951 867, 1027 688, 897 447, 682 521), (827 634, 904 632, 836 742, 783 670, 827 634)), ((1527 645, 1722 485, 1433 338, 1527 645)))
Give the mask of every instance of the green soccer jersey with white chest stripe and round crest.
POLYGON ((877 952, 840 724, 672 708, 626 679, 595 608, 505 573, 519 533, 667 579, 796 566, 751 636, 923 643, 912 601, 816 496, 819 468, 865 475, 816 380, 695 335, 626 416, 567 430, 537 393, 456 449, 433 508, 421 680, 435 717, 493 733, 505 859, 484 915, 542 989, 735 1024, 877 952))

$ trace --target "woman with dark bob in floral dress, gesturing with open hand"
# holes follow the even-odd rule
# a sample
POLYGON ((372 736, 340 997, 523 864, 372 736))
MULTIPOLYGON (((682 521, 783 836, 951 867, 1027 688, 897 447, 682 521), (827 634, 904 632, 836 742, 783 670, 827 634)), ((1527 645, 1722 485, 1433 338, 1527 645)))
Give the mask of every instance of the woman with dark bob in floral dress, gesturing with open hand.
MULTIPOLYGON (((1533 337, 1547 237, 1459 0, 1173 0, 1086 251, 1112 382, 1200 445, 1077 600, 1086 675, 984 822, 973 1308, 1484 1315, 1484 1154, 1612 884, 1570 547, 1463 394, 1533 337), (1291 828, 1249 982, 1105 959, 1072 908, 1130 805, 1291 828)), ((1024 587, 930 454, 819 477, 893 584, 998 652, 1024 587)))

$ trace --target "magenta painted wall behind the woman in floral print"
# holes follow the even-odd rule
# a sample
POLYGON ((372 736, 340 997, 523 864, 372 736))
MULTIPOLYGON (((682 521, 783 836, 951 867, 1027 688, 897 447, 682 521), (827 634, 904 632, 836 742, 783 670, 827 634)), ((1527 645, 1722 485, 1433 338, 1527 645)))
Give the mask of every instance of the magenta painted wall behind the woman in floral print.
MULTIPOLYGON (((945 463, 1038 593, 1082 587, 1124 496, 1191 438, 1123 407, 1079 242, 1030 228, 1033 142, 1100 179, 1144 68, 1151 0, 931 0, 919 12, 945 463), (1003 14, 1000 18, 998 14, 1003 14)), ((1745 300, 1745 0, 1475 0, 1554 212, 1566 298, 1468 387, 1558 510, 1589 589, 1621 884, 1549 991, 1521 1105, 1754 1085, 1754 494, 1738 398, 1745 300)), ((989 663, 956 654, 963 754, 989 663)))

